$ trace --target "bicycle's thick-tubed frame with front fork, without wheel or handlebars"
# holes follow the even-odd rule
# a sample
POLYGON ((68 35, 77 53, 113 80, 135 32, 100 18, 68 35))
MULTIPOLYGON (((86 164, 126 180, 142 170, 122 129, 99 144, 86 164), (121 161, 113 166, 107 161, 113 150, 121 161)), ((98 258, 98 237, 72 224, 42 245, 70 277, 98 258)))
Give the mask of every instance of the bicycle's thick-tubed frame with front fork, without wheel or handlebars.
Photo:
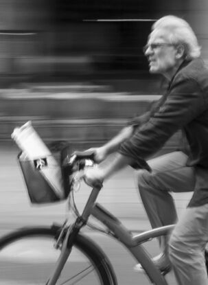
POLYGON ((161 235, 167 235, 172 231, 174 225, 169 225, 165 227, 159 227, 157 229, 152 229, 140 233, 137 236, 132 236, 132 233, 122 225, 122 223, 115 217, 113 214, 108 212, 100 204, 95 203, 96 198, 100 192, 100 187, 93 187, 89 200, 87 201, 82 216, 76 219, 76 222, 71 225, 70 229, 67 231, 66 238, 62 244, 62 250, 60 258, 56 264, 56 269, 54 270, 54 275, 51 277, 47 285, 54 285, 58 280, 58 276, 62 271, 62 268, 69 258, 71 248, 73 247, 73 240, 76 238, 76 235, 80 229, 86 224, 89 216, 94 216, 97 220, 100 220, 108 229, 108 234, 113 236, 115 239, 119 240, 130 253, 135 257, 135 259, 141 263, 144 271, 146 271, 150 282, 155 285, 167 285, 167 282, 163 274, 154 266, 148 252, 142 246, 142 242, 146 242, 152 238, 156 238, 161 235))

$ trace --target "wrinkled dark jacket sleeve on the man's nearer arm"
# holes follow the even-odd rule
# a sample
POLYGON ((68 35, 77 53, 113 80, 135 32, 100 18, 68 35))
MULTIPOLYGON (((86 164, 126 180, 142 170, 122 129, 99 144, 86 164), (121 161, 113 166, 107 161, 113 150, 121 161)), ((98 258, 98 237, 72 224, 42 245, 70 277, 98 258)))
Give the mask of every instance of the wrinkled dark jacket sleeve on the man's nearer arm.
POLYGON ((205 110, 205 100, 198 82, 181 78, 170 89, 165 102, 124 141, 119 153, 131 157, 135 163, 157 152, 178 129, 189 124, 205 110))

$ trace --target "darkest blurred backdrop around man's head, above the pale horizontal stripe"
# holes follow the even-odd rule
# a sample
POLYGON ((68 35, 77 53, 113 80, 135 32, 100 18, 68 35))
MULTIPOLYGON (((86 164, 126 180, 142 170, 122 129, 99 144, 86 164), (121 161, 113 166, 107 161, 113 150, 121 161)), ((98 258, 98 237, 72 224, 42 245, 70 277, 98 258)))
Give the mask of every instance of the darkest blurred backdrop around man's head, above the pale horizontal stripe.
POLYGON ((189 21, 207 59, 207 6, 206 0, 1 0, 1 87, 150 79, 142 47, 152 22, 165 14, 189 21))

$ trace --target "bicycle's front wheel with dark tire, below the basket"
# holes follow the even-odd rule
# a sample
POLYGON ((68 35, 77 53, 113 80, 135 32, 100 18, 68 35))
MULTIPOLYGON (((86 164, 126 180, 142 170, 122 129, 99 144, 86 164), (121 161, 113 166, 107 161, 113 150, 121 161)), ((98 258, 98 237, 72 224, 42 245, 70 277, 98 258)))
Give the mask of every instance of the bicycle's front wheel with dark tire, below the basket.
MULTIPOLYGON (((59 227, 26 227, 17 229, 16 231, 13 231, 12 233, 9 233, 0 238, 0 285, 12 285, 12 280, 14 280, 14 284, 21 285, 47 284, 49 276, 47 275, 46 279, 43 280, 43 283, 41 276, 42 273, 45 274, 46 271, 48 271, 47 267, 52 263, 54 257, 50 255, 49 251, 47 251, 47 247, 44 242, 49 242, 51 246, 51 241, 54 242, 58 229, 59 227), (39 240, 40 238, 41 242, 39 240), (40 247, 40 249, 38 249, 38 254, 40 253, 38 256, 34 254, 34 249, 36 246, 36 242, 34 241, 36 240, 38 241, 38 247, 40 247), (43 250, 47 253, 46 255, 43 253, 43 250), (19 252, 17 253, 17 251, 19 252), (41 255, 42 253, 43 256, 41 255), (45 267, 43 266, 43 259, 45 260, 45 267), (30 263, 32 264, 31 266, 30 263), (34 273, 34 264, 37 265, 36 273, 34 273), (2 265, 3 269, 1 269, 2 265), (10 265, 12 266, 12 269, 9 269, 8 266, 10 265), (20 273, 17 272, 19 269, 20 273), (8 276, 5 276, 5 273, 8 273, 8 276), (14 273, 16 275, 14 275, 14 273), (25 278, 25 280, 23 280, 23 278, 25 278)), ((72 271, 75 269, 77 270, 78 265, 81 266, 82 263, 85 265, 85 262, 87 262, 87 265, 91 264, 91 267, 89 269, 91 276, 87 275, 87 280, 80 280, 80 275, 78 275, 78 272, 73 272, 73 274, 76 275, 77 279, 75 280, 75 277, 73 276, 73 279, 69 280, 69 277, 72 278, 72 276, 68 276, 69 270, 66 269, 66 273, 62 272, 62 279, 56 283, 57 285, 95 284, 95 282, 91 280, 91 278, 94 278, 94 275, 97 282, 96 284, 117 285, 117 280, 113 271, 113 267, 111 266, 111 262, 108 260, 102 249, 100 249, 100 247, 98 247, 97 244, 95 244, 91 239, 78 234, 73 246, 73 251, 75 251, 74 258, 71 258, 71 255, 69 256, 69 260, 71 258, 71 260, 74 262, 70 262, 70 268, 72 271), (66 277, 64 276, 65 274, 66 277)), ((54 263, 56 260, 54 260, 54 263)), ((83 274, 86 275, 86 271, 84 271, 83 274)))

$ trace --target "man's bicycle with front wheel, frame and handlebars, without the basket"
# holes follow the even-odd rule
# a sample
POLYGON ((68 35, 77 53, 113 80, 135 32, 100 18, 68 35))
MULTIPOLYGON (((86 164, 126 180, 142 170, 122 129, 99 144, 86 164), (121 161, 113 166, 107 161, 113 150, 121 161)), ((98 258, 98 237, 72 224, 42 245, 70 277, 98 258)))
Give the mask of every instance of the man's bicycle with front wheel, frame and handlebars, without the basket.
MULTIPOLYGON (((65 170, 83 169, 91 161, 93 161, 92 153, 76 152, 67 160, 65 166, 70 167, 65 167, 65 170)), ((67 175, 69 178, 69 173, 67 175)), ((0 284, 3 280, 3 285, 12 285, 9 281, 10 275, 15 275, 15 284, 21 285, 116 285, 115 271, 104 251, 93 240, 80 233, 80 229, 88 225, 121 242, 135 261, 141 263, 152 284, 167 285, 165 280, 167 271, 161 272, 154 266, 143 244, 153 238, 169 235, 174 225, 144 231, 134 236, 113 214, 96 203, 102 189, 100 181, 93 185, 82 214, 78 212, 73 196, 76 180, 68 179, 68 183, 71 191, 67 203, 76 213, 75 221, 68 224, 66 220, 63 225, 51 225, 51 227, 25 227, 0 238, 0 284), (90 225, 90 216, 99 220, 105 229, 90 225), (40 247, 38 250, 40 255, 36 257, 33 255, 32 260, 27 260, 24 256, 25 251, 28 253, 36 247, 40 247), (36 258, 37 264, 35 264, 36 258), (36 272, 34 265, 37 266, 36 272)))

